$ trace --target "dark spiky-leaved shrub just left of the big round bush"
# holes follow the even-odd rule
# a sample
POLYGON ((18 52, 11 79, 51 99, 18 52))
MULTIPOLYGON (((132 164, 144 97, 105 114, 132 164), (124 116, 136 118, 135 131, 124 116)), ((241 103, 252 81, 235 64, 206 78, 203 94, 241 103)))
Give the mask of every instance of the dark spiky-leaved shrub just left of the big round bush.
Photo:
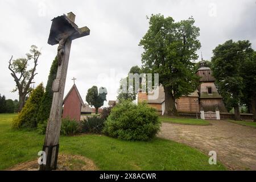
POLYGON ((82 121, 82 132, 85 133, 101 133, 105 120, 103 118, 93 116, 82 121))

